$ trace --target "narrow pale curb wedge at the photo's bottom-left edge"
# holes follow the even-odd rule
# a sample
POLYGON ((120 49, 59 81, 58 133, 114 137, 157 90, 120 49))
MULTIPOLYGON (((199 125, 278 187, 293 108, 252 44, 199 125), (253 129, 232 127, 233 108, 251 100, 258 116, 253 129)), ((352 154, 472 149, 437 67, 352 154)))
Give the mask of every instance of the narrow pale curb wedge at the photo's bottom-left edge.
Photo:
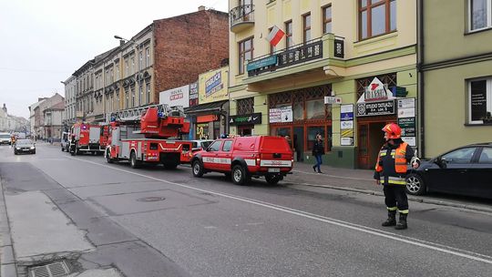
POLYGON ((0 178, 0 276, 17 276, 14 248, 5 207, 4 185, 0 178))

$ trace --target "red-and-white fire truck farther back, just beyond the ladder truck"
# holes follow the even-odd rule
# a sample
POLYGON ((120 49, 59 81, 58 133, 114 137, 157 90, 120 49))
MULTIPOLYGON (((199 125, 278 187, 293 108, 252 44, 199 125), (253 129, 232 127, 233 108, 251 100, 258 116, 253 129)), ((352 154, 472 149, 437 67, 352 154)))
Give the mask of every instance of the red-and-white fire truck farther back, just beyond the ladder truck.
POLYGON ((70 154, 104 153, 106 143, 101 143, 103 129, 99 125, 88 123, 76 123, 72 126, 70 139, 70 154))

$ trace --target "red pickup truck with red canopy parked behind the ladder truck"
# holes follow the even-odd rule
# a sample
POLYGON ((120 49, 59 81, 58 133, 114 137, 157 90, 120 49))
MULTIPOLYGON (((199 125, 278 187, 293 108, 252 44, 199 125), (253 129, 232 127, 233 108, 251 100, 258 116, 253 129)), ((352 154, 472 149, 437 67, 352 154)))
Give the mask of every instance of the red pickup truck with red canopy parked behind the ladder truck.
POLYGON ((292 149, 287 140, 271 136, 217 139, 191 159, 194 177, 200 178, 211 171, 222 172, 238 185, 261 176, 269 184, 276 184, 292 173, 292 166, 292 149))

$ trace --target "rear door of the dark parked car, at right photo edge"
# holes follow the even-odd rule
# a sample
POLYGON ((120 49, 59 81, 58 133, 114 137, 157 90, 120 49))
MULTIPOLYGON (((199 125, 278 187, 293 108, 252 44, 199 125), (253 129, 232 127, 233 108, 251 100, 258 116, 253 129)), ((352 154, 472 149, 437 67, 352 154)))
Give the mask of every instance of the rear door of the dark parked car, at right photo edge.
POLYGON ((469 170, 469 195, 492 199, 492 147, 484 147, 477 155, 477 163, 469 170))

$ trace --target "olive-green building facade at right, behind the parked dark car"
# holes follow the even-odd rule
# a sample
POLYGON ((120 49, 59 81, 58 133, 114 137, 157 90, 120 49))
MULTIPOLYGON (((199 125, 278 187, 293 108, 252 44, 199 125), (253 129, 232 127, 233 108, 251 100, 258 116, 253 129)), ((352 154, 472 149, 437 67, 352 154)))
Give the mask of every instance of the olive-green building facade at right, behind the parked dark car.
POLYGON ((490 141, 492 1, 418 3, 423 156, 490 141))

